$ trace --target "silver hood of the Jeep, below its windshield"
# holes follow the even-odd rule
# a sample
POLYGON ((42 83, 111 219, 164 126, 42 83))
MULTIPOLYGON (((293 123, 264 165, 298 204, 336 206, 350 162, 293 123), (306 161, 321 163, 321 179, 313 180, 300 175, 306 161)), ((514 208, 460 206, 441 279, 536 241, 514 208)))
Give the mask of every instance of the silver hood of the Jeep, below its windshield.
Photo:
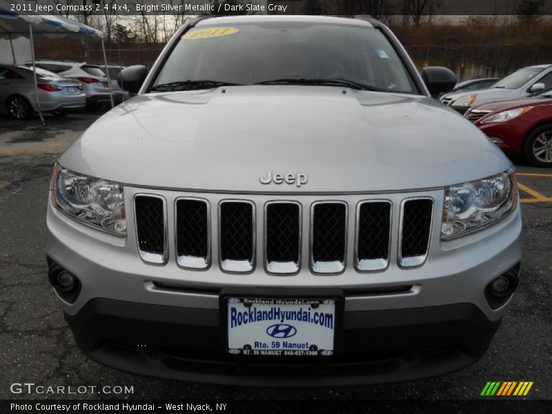
POLYGON ((442 187, 509 161, 439 101, 324 86, 138 95, 103 115, 61 166, 136 186, 258 193, 442 187), (308 183, 261 184, 267 170, 308 183))

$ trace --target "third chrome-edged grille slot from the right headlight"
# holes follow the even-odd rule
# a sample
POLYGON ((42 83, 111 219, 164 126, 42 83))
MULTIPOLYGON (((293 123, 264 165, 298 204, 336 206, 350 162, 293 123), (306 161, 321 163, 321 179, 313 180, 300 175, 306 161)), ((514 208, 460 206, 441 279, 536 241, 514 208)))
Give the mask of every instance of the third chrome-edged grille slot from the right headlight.
POLYGON ((318 201, 311 206, 311 268, 313 273, 342 273, 347 248, 347 205, 318 201))

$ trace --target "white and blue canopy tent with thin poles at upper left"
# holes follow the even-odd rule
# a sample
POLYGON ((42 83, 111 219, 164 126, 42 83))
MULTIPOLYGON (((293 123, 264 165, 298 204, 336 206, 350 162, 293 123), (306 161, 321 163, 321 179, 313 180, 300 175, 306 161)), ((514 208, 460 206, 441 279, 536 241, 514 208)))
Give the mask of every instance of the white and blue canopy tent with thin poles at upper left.
MULTIPOLYGON (((103 44, 103 33, 95 28, 86 26, 79 21, 68 19, 62 16, 37 15, 37 14, 19 14, 11 11, 10 3, 6 0, 0 0, 0 61, 17 65, 22 61, 32 60, 34 71, 34 96, 37 99, 37 108, 44 124, 44 118, 40 110, 39 95, 37 88, 36 62, 34 59, 34 39, 33 34, 40 33, 48 36, 49 34, 90 36, 101 39, 101 48, 103 50, 103 60, 108 64, 106 57, 106 48, 103 44), (29 42, 30 41, 30 42, 29 42)), ((108 86, 111 96, 111 106, 113 106, 113 94, 111 90, 111 79, 109 71, 106 70, 108 77, 108 86)))

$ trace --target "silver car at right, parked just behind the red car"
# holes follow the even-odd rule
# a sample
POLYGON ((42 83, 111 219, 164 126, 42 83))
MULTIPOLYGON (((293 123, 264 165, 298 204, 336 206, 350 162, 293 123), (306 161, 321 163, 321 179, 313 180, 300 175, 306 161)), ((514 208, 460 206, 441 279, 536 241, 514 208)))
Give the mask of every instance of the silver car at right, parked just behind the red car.
POLYGON ((552 88, 552 65, 537 65, 521 68, 491 88, 453 92, 442 96, 442 103, 464 114, 473 106, 496 101, 509 101, 528 97, 533 93, 552 88))

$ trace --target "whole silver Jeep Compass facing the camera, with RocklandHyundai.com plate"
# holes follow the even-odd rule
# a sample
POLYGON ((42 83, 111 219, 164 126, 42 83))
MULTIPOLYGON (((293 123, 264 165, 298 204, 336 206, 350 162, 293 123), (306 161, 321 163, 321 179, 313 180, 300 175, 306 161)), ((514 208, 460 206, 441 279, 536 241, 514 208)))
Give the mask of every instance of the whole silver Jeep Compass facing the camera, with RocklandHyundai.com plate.
POLYGON ((481 357, 517 286, 509 161, 373 19, 188 23, 61 155, 50 282, 145 375, 323 385, 481 357))

